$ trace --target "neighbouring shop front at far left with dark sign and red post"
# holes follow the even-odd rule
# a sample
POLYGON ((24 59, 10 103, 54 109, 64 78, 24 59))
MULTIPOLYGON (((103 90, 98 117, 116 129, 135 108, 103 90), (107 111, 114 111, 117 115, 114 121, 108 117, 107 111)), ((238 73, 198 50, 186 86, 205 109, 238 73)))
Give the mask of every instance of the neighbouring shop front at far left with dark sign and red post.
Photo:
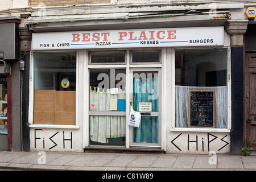
POLYGON ((0 18, 0 150, 21 151, 20 16, 0 18))

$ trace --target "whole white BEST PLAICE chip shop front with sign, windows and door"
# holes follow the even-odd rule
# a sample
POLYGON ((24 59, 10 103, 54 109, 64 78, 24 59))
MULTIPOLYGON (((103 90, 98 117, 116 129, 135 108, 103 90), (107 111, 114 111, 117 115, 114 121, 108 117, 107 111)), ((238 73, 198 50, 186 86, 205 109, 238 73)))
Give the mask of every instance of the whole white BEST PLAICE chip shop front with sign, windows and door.
POLYGON ((229 61, 223 26, 35 32, 31 150, 228 153, 229 61))

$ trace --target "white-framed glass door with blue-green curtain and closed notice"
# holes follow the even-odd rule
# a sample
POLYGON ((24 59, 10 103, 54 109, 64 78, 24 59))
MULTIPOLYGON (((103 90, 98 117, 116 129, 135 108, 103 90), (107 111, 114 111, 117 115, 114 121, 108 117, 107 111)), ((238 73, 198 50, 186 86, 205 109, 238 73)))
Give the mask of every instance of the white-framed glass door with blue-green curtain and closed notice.
POLYGON ((133 68, 130 77, 130 104, 141 113, 139 127, 131 127, 131 147, 160 147, 160 68, 133 68))

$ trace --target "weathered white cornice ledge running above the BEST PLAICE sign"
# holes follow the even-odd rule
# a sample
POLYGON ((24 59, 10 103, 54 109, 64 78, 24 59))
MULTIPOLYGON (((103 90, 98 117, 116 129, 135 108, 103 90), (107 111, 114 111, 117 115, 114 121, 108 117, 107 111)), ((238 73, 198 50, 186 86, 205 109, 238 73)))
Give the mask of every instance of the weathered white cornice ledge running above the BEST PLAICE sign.
POLYGON ((243 7, 238 2, 33 7, 26 25, 34 32, 224 26, 230 9, 243 7))

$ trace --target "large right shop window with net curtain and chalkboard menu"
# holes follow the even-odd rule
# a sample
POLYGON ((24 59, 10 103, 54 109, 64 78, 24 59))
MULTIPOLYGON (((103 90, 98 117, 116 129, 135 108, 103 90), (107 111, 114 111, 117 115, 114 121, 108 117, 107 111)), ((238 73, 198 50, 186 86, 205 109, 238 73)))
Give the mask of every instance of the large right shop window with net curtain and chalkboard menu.
POLYGON ((176 127, 227 128, 227 49, 176 49, 176 127))

